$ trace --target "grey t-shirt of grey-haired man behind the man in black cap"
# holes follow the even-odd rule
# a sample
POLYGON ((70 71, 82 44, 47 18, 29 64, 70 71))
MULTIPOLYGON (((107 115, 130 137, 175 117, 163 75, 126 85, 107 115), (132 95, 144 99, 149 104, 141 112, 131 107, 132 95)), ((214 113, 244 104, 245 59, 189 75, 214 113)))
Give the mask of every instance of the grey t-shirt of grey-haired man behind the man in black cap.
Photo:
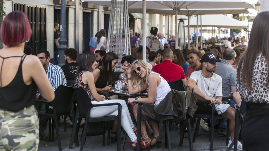
POLYGON ((222 78, 222 93, 223 96, 228 96, 231 93, 231 86, 236 84, 236 71, 230 63, 221 60, 216 62, 216 74, 222 78))

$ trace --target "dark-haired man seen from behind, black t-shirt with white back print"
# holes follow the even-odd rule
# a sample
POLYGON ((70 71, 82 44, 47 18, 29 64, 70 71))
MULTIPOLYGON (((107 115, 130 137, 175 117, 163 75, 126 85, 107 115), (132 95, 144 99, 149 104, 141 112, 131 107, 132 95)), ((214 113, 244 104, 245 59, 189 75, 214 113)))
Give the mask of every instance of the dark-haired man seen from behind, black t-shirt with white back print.
POLYGON ((75 75, 78 70, 77 51, 76 49, 69 48, 64 51, 65 65, 61 68, 64 71, 64 76, 67 80, 67 85, 72 86, 74 83, 75 75))

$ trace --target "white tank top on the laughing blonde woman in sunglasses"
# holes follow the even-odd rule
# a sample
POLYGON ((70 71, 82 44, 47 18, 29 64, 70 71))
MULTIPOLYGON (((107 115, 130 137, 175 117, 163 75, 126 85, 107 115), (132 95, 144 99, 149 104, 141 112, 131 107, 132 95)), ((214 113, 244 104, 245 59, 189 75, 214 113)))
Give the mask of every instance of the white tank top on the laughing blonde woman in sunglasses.
MULTIPOLYGON (((156 72, 151 72, 150 74, 157 74, 156 72)), ((168 92, 171 91, 171 88, 169 86, 169 84, 167 83, 166 80, 164 80, 163 77, 160 76, 160 74, 157 74, 160 79, 161 79, 161 82, 160 84, 157 86, 157 94, 156 94, 156 98, 155 98, 155 104, 159 104, 163 99, 164 97, 167 95, 168 92)), ((149 85, 149 83, 148 83, 149 85)))

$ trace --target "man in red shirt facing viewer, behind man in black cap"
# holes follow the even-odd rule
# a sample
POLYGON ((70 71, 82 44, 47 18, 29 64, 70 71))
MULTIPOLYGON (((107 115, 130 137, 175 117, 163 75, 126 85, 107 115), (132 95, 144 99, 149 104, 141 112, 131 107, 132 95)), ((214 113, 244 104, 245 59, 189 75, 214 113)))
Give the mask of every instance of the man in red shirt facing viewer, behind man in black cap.
POLYGON ((201 63, 199 61, 198 52, 191 51, 187 54, 187 61, 190 64, 190 66, 187 69, 186 78, 188 79, 190 75, 201 66, 201 63))

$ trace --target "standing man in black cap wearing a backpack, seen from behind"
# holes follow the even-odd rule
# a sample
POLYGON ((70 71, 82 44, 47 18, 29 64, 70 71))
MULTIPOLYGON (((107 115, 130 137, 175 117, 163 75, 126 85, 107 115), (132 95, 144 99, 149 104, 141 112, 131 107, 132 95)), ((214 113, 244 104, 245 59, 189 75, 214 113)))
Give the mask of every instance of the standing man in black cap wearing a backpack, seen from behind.
MULTIPOLYGON (((159 49, 164 50, 164 46, 156 37, 158 33, 157 27, 150 28, 150 36, 146 37, 146 46, 150 48, 150 51, 158 51, 159 49)), ((141 41, 140 45, 143 45, 143 41, 141 41)))

